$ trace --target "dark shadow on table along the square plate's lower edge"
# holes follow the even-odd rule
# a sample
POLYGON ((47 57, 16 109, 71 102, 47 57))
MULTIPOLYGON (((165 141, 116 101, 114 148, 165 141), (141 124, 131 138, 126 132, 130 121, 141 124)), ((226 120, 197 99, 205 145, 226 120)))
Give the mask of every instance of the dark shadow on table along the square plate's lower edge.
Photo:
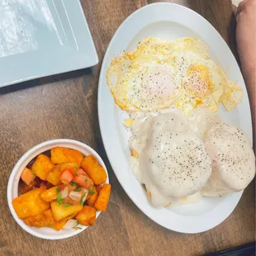
POLYGON ((44 78, 36 78, 36 79, 29 80, 26 82, 16 83, 16 84, 12 84, 12 85, 0 88, 0 95, 10 93, 10 92, 20 91, 20 90, 27 89, 27 88, 33 88, 33 87, 40 86, 40 85, 43 85, 46 83, 55 83, 55 82, 59 82, 61 80, 64 81, 66 79, 78 78, 80 76, 88 75, 91 73, 92 73, 92 69, 88 68, 88 69, 74 70, 74 71, 67 72, 67 73, 58 73, 58 74, 51 75, 51 76, 44 77, 44 78))

